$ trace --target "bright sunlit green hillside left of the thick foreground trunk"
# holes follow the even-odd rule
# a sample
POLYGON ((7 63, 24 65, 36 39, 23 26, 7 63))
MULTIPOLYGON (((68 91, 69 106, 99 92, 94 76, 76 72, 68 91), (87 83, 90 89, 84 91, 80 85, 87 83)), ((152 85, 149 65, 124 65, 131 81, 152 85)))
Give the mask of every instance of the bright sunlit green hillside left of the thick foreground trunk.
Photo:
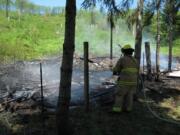
POLYGON ((33 59, 59 53, 63 44, 64 16, 24 15, 19 21, 16 13, 11 14, 8 21, 0 13, 1 60, 33 59))

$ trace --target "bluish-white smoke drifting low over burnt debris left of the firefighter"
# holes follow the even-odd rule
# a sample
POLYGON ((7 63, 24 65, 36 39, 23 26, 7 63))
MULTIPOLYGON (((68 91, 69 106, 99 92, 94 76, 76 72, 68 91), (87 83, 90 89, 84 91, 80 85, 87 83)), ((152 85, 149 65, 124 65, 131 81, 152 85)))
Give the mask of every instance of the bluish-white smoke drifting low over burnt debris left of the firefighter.
MULTIPOLYGON (((45 100, 52 105, 56 105, 59 95, 60 61, 59 58, 41 61, 45 100)), ((40 92, 40 61, 23 62, 21 66, 15 65, 6 70, 6 74, 0 77, 0 89, 4 89, 4 92, 16 91, 15 96, 20 96, 24 92, 40 92)), ((90 71, 90 90, 96 88, 111 75, 110 71, 90 71)), ((76 67, 72 76, 72 101, 82 101, 84 71, 76 67)))

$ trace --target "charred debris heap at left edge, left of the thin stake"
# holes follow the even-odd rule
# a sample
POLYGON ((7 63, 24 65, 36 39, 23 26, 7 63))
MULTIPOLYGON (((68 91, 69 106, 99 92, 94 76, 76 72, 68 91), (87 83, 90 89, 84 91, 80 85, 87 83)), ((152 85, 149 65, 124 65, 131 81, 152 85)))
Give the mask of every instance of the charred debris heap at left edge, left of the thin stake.
POLYGON ((21 114, 31 114, 40 111, 40 93, 39 92, 18 92, 8 94, 0 99, 0 112, 10 111, 21 114))

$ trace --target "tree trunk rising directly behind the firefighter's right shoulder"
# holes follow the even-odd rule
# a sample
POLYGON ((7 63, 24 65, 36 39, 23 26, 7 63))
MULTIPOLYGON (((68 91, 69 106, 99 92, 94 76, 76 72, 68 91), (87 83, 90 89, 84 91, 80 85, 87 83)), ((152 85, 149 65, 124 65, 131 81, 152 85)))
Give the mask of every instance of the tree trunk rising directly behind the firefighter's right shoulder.
POLYGON ((144 0, 138 0, 138 16, 136 20, 136 37, 135 37, 135 58, 138 61, 138 69, 140 68, 140 60, 141 60, 143 5, 144 5, 144 0))

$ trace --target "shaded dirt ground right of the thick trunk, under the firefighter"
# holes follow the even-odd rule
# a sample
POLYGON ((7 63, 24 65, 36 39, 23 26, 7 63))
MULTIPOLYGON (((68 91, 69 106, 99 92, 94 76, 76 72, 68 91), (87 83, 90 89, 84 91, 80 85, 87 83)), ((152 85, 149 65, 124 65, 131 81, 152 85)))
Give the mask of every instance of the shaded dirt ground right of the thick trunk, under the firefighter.
MULTIPOLYGON (((154 83, 154 85, 161 86, 160 93, 146 89, 145 98, 143 92, 140 92, 131 113, 108 113, 112 103, 92 107, 88 114, 82 108, 72 110, 71 120, 75 127, 74 134, 178 135, 180 132, 180 91, 173 88, 167 89, 167 87, 162 87, 162 84, 162 82, 154 83)), ((149 85, 152 85, 152 82, 149 85)))

